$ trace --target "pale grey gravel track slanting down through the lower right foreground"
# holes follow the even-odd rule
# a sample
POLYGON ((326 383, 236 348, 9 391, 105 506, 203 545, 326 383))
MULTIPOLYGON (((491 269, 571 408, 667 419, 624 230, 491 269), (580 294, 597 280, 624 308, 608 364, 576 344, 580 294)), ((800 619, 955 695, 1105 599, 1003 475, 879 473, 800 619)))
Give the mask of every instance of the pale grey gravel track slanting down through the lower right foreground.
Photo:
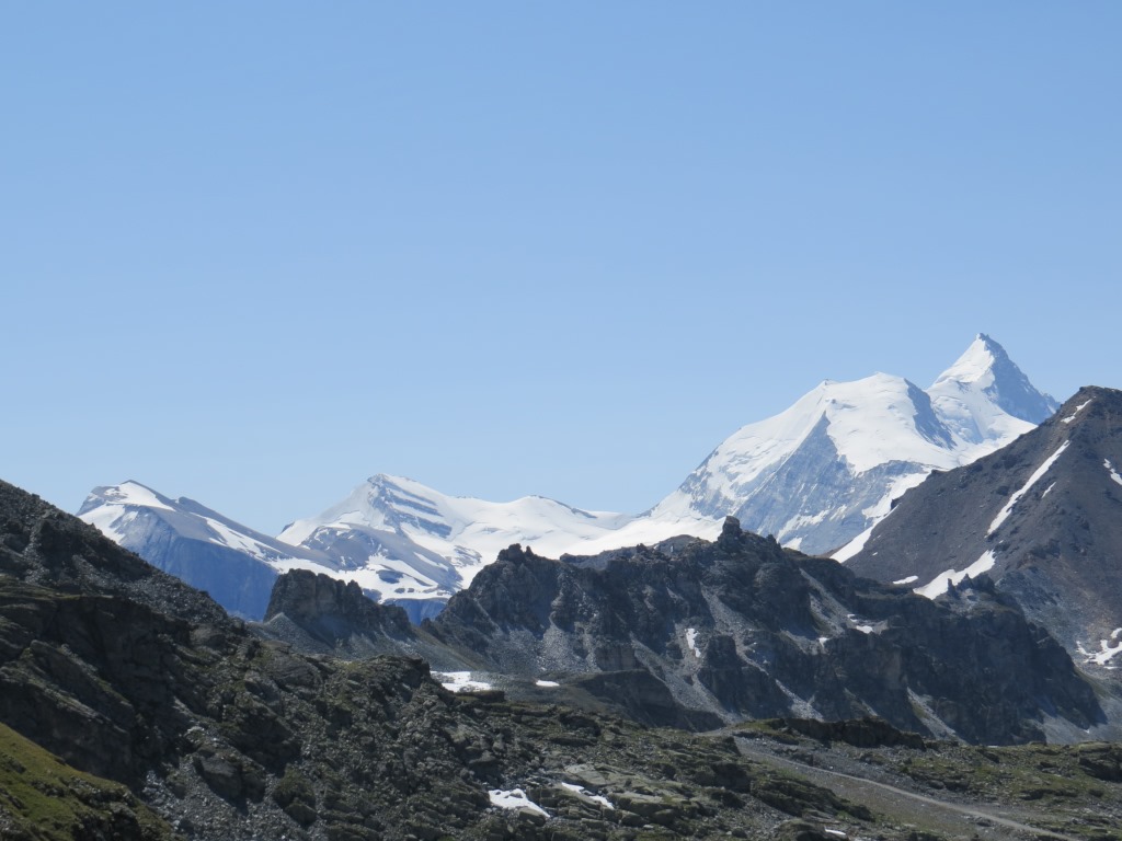
POLYGON ((942 833, 962 834, 965 838, 985 839, 986 841, 991 839, 993 841, 999 839, 1086 841, 1003 817, 978 806, 963 806, 898 788, 888 783, 879 783, 830 768, 806 765, 787 757, 779 757, 770 751, 754 748, 752 742, 746 739, 737 739, 736 743, 744 756, 762 765, 793 768, 816 785, 829 788, 835 794, 855 803, 863 803, 874 812, 893 821, 916 824, 942 833))

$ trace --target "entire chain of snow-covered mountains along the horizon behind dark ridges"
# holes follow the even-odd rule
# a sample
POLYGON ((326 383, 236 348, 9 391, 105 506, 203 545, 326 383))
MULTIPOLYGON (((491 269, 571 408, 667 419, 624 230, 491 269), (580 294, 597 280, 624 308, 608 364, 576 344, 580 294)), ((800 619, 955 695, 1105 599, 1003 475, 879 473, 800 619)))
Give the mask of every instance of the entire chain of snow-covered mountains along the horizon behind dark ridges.
POLYGON ((839 557, 852 556, 892 500, 932 470, 1000 449, 1056 406, 980 334, 926 391, 883 373, 820 383, 785 412, 734 433, 640 515, 542 497, 449 497, 380 474, 277 538, 137 482, 95 489, 79 515, 249 618, 263 616, 278 572, 302 567, 356 581, 419 621, 515 543, 550 556, 591 555, 683 534, 712 538, 734 515, 793 548, 845 547, 839 557))

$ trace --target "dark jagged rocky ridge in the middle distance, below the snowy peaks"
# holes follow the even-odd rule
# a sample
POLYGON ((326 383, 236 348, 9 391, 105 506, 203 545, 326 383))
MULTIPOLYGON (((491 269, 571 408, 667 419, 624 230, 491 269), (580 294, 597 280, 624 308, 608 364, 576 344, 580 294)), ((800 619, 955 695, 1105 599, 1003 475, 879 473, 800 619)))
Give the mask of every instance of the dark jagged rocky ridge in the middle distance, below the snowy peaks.
POLYGON ((1066 653, 992 588, 936 604, 733 518, 712 544, 568 561, 512 547, 425 628, 495 671, 581 681, 663 723, 876 714, 1008 742, 1041 738, 1050 715, 1080 728, 1103 718, 1066 653), (645 688, 622 692, 624 677, 645 688))

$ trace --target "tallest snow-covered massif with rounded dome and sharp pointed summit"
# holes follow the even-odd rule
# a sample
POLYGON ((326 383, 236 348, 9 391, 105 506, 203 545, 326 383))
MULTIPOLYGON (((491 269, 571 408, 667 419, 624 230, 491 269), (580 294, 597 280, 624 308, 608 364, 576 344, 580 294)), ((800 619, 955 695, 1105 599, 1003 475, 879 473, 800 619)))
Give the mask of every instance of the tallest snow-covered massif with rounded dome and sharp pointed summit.
POLYGON ((865 533, 932 470, 1004 446, 1056 406, 980 334, 927 391, 884 373, 822 382, 725 440, 646 517, 730 514, 784 545, 830 552, 865 533))

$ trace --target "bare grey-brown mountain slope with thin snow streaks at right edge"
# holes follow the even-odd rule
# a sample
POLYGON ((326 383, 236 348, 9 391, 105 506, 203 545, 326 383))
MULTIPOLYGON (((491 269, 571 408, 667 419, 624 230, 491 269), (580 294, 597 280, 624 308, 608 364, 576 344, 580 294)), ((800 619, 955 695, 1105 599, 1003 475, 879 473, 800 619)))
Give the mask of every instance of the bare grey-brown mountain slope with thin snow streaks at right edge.
POLYGON ((1006 447, 905 493, 846 566, 921 586, 992 553, 997 589, 1086 659, 1122 641, 1120 471, 1122 391, 1082 388, 1006 447))

